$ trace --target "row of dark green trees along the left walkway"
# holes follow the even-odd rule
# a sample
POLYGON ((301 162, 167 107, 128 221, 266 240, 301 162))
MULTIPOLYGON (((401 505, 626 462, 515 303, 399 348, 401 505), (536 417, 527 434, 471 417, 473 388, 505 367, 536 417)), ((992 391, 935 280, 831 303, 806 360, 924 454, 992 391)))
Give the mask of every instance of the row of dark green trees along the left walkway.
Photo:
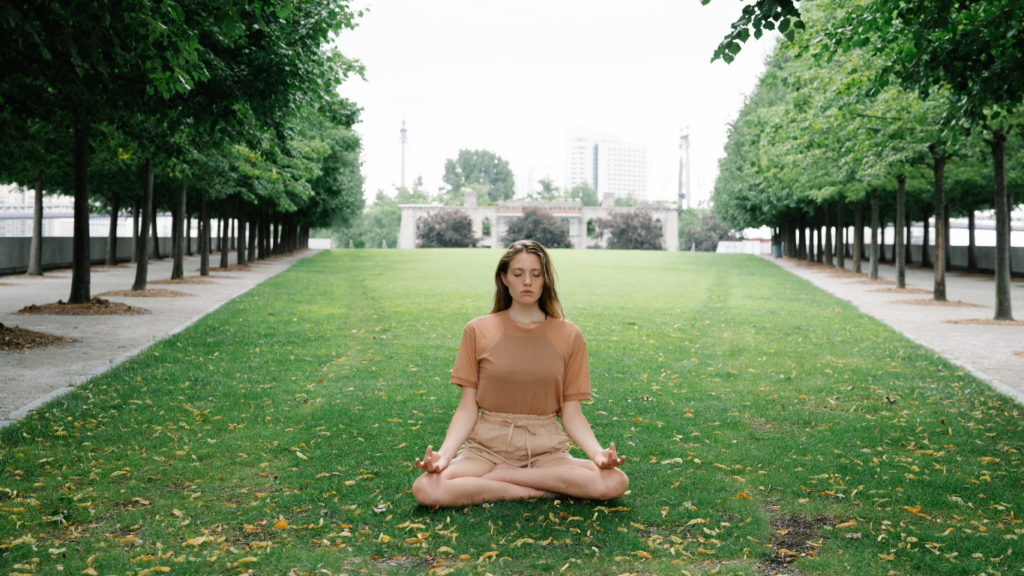
POLYGON ((174 216, 172 278, 191 218, 206 275, 211 236, 236 235, 245 264, 357 215, 359 110, 337 87, 362 69, 331 42, 358 15, 339 0, 3 3, 0 181, 36 191, 30 274, 43 191, 75 198, 69 303, 90 298, 90 212, 111 216, 108 263, 132 214, 137 290, 157 212, 174 216))

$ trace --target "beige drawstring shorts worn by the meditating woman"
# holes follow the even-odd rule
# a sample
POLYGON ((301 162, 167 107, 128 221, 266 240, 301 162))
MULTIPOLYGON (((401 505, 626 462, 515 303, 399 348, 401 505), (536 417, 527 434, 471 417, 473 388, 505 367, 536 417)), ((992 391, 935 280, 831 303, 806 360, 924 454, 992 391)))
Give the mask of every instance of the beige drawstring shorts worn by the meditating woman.
POLYGON ((568 440, 554 414, 503 414, 481 409, 458 456, 529 468, 571 458, 568 440))

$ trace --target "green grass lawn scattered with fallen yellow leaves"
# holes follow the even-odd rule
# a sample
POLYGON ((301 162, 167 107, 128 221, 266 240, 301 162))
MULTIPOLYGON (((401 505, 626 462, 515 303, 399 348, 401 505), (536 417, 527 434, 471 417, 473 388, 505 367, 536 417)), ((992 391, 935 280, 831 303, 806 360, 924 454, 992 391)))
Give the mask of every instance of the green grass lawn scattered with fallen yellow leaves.
POLYGON ((631 491, 416 505, 498 256, 322 253, 4 428, 0 572, 1024 572, 1021 407, 753 256, 555 251, 631 491))

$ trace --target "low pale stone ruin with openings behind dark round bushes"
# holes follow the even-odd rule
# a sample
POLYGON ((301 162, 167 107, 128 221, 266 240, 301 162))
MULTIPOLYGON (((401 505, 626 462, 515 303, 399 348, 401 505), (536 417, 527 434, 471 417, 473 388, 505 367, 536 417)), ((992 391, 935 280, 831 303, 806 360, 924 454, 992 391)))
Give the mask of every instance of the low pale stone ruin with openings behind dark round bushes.
POLYGON ((600 206, 581 206, 579 199, 555 202, 509 201, 499 202, 497 206, 477 206, 476 193, 463 192, 462 206, 442 206, 440 204, 401 204, 401 228, 398 231, 398 248, 416 248, 417 231, 420 220, 441 210, 460 210, 469 214, 473 220, 473 236, 480 239, 479 246, 483 248, 502 248, 505 246, 502 238, 508 232, 509 222, 522 216, 525 208, 537 207, 564 222, 569 240, 577 250, 586 248, 604 248, 607 240, 587 234, 594 229, 594 220, 606 218, 615 212, 633 212, 646 210, 662 229, 667 250, 679 250, 679 213, 675 206, 660 202, 639 202, 636 208, 615 206, 615 197, 605 193, 600 206), (487 234, 484 234, 487 231, 487 234))

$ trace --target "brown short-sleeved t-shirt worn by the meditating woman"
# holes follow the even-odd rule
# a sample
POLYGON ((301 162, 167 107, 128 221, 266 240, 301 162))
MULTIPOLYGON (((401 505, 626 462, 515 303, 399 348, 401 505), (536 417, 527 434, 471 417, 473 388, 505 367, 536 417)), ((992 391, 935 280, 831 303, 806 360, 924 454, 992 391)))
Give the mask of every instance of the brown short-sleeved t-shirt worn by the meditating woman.
POLYGON ((561 415, 563 402, 590 400, 587 342, 567 320, 527 329, 508 311, 481 316, 462 332, 452 383, 476 388, 490 412, 561 415))

